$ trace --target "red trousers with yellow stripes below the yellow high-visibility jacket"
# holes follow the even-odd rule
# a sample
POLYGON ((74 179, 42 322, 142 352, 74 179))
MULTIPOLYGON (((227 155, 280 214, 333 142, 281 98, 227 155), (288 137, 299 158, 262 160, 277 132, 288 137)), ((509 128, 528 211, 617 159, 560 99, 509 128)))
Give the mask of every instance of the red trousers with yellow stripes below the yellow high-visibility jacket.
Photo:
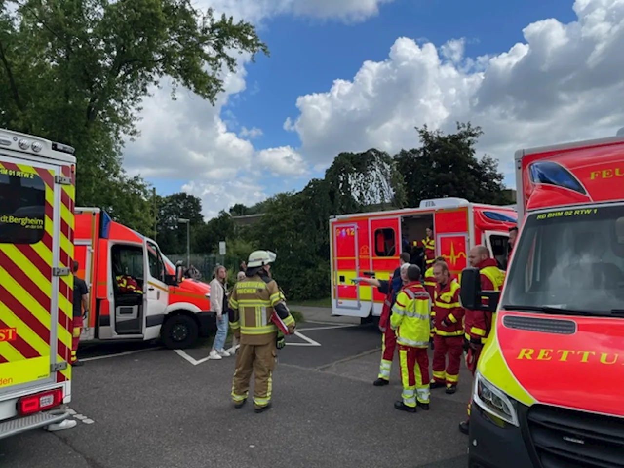
POLYGON ((401 381, 403 404, 415 407, 419 403, 429 403, 429 356, 427 348, 415 348, 399 344, 399 363, 401 363, 401 381))

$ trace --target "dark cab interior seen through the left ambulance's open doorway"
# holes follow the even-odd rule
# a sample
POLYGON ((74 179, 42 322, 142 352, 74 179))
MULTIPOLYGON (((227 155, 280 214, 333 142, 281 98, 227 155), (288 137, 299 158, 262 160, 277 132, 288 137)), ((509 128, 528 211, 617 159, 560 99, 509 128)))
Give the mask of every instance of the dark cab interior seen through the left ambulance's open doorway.
POLYGON ((115 297, 115 332, 142 333, 144 258, 140 245, 115 244, 110 248, 112 285, 115 297), (139 292, 120 290, 117 276, 130 276, 137 282, 139 292))

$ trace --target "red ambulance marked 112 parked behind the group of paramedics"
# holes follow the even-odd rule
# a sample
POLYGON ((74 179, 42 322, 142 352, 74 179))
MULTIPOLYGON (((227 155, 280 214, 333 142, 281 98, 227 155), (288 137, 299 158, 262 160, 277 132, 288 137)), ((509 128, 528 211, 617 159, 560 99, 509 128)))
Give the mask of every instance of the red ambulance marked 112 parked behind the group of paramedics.
POLYGON ((466 268, 468 251, 486 245, 499 263, 505 262, 509 228, 515 226, 514 207, 470 203, 463 198, 422 200, 418 208, 354 213, 329 220, 331 236, 332 314, 379 317, 384 296, 377 288, 353 284, 358 276, 388 280, 399 266, 402 246, 426 237, 434 227, 435 255, 444 256, 449 269, 466 268))

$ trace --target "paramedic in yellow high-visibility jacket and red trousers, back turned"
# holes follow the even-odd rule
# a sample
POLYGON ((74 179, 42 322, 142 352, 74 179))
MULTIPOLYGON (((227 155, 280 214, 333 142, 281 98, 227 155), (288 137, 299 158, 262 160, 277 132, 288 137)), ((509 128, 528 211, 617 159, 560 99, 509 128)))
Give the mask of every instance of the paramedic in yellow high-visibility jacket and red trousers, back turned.
POLYGON ((399 363, 403 383, 402 401, 394 403, 401 411, 416 412, 416 407, 429 409, 429 333, 431 331, 431 296, 420 283, 421 270, 417 265, 401 266, 406 276, 392 308, 391 327, 396 330, 399 344, 399 363))

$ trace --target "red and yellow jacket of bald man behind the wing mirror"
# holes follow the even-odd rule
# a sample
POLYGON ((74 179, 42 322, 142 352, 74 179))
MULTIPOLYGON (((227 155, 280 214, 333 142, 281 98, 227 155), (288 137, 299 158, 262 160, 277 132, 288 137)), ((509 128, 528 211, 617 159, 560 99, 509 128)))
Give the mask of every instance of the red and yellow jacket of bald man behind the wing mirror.
MULTIPOLYGON (((505 271, 500 270, 494 258, 487 258, 477 268, 480 270, 481 290, 500 291, 505 281, 505 271)), ((487 297, 482 296, 481 302, 487 304, 487 297)), ((484 310, 466 310, 464 320, 464 336, 472 343, 483 344, 490 334, 492 313, 484 310)))

